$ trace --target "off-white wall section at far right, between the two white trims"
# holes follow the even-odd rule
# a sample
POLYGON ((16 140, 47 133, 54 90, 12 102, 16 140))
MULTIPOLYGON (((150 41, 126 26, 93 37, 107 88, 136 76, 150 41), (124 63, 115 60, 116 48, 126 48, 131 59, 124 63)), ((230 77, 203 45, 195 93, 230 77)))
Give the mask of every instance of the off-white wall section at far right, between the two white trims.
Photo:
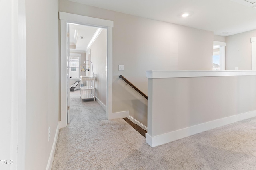
POLYGON ((226 37, 226 70, 252 70, 251 38, 255 36, 252 30, 226 37))

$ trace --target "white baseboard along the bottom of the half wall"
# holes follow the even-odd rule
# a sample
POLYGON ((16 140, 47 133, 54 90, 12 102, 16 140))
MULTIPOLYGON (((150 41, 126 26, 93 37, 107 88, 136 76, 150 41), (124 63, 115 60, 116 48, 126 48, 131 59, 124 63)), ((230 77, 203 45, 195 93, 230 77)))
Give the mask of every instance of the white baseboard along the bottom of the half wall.
POLYGON ((249 119, 252 117, 256 117, 256 110, 249 111, 246 113, 241 113, 241 114, 230 116, 230 117, 225 117, 225 118, 214 120, 214 121, 209 121, 206 123, 202 123, 202 124, 198 124, 190 127, 186 127, 184 129, 179 129, 176 131, 164 133, 162 135, 157 135, 154 137, 146 133, 146 143, 148 143, 148 145, 150 145, 151 147, 156 147, 159 145, 163 145, 165 143, 182 139, 184 137, 195 135, 197 133, 201 133, 210 129, 214 129, 216 127, 221 127, 224 125, 228 125, 230 123, 234 123, 244 119, 249 119))

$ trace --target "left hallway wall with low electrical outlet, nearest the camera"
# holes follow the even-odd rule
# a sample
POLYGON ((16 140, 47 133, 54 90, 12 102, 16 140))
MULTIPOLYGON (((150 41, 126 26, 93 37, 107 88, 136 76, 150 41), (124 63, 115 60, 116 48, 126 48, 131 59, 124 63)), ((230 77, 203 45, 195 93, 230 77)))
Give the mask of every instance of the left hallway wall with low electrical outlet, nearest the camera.
POLYGON ((59 118, 58 27, 58 0, 26 0, 26 170, 45 170, 54 145, 59 118))

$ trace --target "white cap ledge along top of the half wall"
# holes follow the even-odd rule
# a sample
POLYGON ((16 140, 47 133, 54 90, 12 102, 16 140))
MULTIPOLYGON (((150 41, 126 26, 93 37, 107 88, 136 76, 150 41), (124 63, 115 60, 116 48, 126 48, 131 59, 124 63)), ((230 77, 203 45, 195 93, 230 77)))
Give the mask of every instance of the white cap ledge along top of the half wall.
POLYGON ((218 76, 254 76, 256 71, 147 71, 147 78, 185 78, 185 77, 218 77, 218 76))

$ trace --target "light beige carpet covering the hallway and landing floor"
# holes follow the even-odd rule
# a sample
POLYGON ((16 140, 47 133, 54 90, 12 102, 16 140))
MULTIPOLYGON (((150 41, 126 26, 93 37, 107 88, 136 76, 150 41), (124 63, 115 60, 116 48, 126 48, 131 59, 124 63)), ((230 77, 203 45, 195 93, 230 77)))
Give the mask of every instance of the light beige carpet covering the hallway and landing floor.
POLYGON ((70 92, 52 170, 256 170, 256 117, 151 148, 123 119, 70 92))

